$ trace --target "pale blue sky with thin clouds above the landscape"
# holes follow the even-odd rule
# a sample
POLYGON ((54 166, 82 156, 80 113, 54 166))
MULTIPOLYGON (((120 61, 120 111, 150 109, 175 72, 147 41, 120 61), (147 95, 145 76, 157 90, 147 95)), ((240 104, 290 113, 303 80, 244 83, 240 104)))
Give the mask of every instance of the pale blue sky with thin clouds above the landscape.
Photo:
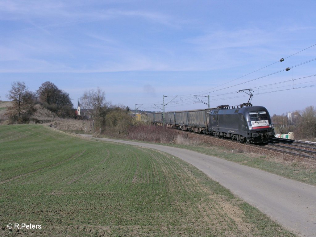
POLYGON ((271 114, 316 106, 315 9, 312 0, 0 0, 1 100, 14 81, 32 91, 51 81, 75 106, 97 87, 144 110, 158 111, 163 95, 178 96, 166 111, 205 108, 194 95, 238 105, 248 88, 271 114))

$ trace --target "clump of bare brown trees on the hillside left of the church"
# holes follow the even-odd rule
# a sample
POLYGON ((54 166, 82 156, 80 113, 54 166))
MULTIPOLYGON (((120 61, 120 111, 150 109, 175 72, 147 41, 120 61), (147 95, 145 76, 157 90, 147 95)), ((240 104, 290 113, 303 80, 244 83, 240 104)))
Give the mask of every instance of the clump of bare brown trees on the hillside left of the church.
POLYGON ((6 96, 13 103, 12 106, 7 107, 6 112, 13 123, 29 121, 36 112, 36 104, 42 104, 60 117, 73 114, 73 104, 69 94, 52 82, 44 82, 35 92, 30 91, 24 82, 13 82, 6 96))

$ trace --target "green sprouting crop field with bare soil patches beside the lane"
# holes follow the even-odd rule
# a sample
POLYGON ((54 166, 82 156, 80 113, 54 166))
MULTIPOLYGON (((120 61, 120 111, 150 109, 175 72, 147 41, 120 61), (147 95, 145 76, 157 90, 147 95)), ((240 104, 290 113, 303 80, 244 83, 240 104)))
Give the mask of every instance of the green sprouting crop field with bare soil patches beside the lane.
POLYGON ((0 161, 0 236, 295 236, 158 151, 0 125, 0 161))

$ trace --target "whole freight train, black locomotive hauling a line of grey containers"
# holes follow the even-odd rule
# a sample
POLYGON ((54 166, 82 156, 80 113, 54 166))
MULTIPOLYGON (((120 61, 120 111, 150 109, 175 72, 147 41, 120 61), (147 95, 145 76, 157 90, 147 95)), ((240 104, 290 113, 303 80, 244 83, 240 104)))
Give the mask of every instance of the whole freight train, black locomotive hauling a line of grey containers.
POLYGON ((274 137, 269 112, 263 106, 246 103, 211 109, 147 113, 152 125, 229 138, 239 142, 261 143, 274 137), (163 121, 165 120, 165 121, 163 121))

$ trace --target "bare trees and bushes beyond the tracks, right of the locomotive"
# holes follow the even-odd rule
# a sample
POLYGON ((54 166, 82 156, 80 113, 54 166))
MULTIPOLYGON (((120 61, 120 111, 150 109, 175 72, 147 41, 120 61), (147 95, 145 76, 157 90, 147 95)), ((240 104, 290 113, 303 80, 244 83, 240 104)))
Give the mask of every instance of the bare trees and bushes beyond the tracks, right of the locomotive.
POLYGON ((293 112, 290 119, 286 115, 274 114, 271 119, 276 133, 294 132, 295 139, 316 139, 316 108, 308 106, 302 111, 293 112))

